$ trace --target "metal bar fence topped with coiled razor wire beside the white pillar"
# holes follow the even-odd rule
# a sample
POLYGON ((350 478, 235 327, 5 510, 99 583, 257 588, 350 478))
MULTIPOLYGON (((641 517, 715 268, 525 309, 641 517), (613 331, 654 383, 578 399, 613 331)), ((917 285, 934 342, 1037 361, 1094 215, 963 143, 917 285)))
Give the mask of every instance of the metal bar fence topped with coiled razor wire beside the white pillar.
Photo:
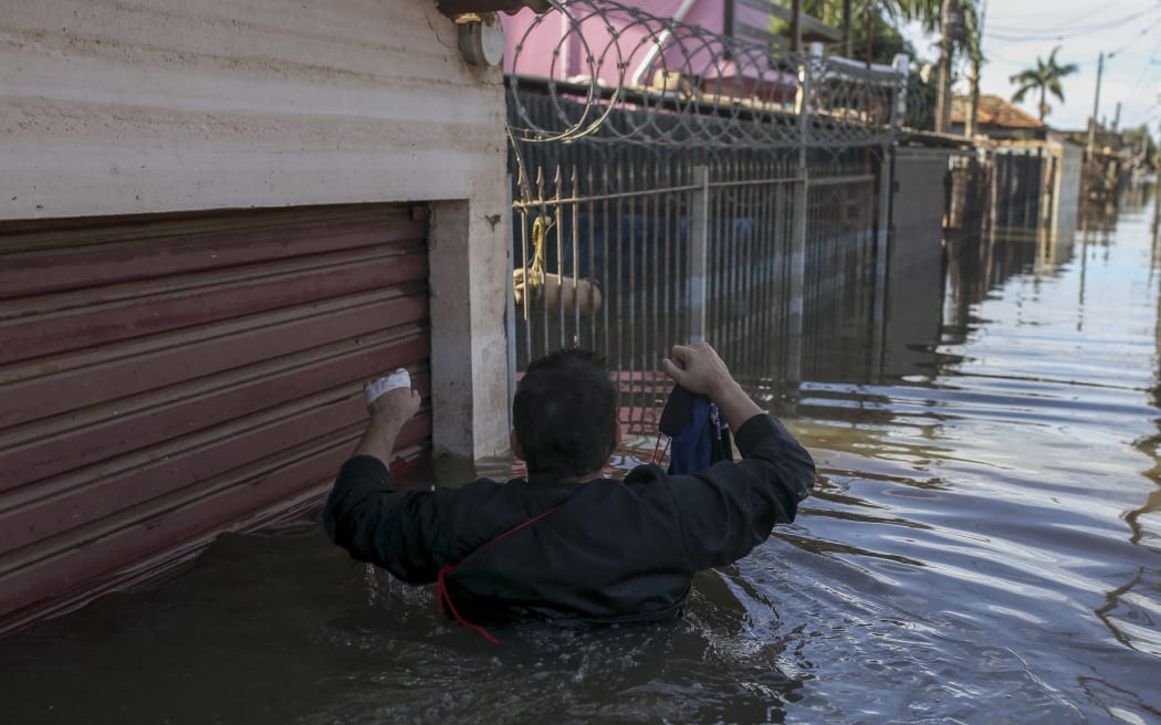
POLYGON ((513 368, 600 350, 647 432, 676 342, 712 341, 771 394, 834 346, 872 350, 906 59, 866 68, 611 2, 568 9, 510 60, 513 368))

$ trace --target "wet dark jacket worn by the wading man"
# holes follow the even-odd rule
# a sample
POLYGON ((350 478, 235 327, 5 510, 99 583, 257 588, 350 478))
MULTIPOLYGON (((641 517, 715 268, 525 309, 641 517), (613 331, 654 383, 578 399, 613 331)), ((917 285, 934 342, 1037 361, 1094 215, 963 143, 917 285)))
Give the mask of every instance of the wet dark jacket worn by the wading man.
POLYGON ((736 443, 742 461, 693 476, 642 465, 623 481, 479 479, 410 493, 391 491, 378 459, 356 456, 324 525, 353 558, 404 581, 459 565, 445 586, 469 618, 665 619, 685 607, 693 572, 748 554, 793 521, 814 485, 810 455, 770 415, 748 420, 736 443))

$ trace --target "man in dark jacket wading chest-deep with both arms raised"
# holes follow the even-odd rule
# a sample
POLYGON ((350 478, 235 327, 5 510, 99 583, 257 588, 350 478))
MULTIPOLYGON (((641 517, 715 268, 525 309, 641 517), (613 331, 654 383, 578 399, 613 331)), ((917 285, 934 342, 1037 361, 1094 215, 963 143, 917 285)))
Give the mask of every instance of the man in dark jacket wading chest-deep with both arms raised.
POLYGON ((679 617, 694 572, 735 561, 793 521, 814 485, 810 455, 730 376, 708 345, 677 346, 665 375, 717 405, 742 459, 695 474, 656 465, 603 476, 621 428, 616 390, 584 350, 534 361, 520 380, 512 450, 528 478, 397 493, 387 463, 419 394, 390 390, 326 502, 327 535, 412 583, 439 583, 462 624, 514 618, 679 617), (469 621, 470 619, 470 621, 469 621))

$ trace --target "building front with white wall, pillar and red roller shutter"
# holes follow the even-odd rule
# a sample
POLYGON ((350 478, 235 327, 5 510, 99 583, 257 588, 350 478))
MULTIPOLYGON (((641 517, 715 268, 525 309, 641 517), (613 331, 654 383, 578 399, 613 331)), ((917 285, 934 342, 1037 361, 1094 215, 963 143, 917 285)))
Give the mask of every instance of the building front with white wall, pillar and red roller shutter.
POLYGON ((507 441, 502 68, 434 2, 45 0, 0 29, 0 626, 507 441))

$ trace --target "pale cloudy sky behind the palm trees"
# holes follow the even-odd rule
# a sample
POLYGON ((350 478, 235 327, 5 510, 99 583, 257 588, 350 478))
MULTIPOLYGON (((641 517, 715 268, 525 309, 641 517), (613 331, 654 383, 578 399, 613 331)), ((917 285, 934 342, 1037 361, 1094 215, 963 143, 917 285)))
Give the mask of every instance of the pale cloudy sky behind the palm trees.
MULTIPOLYGON (((1093 114, 1097 60, 1105 55, 1097 117, 1112 123, 1120 108, 1120 126, 1145 123, 1153 136, 1161 128, 1161 0, 978 0, 985 5, 983 66, 980 93, 1011 100, 1017 86, 1008 81, 1037 57, 1047 60, 1060 45, 1057 61, 1075 63, 1079 71, 1063 79, 1065 102, 1048 97, 1046 117, 1057 129, 1083 129, 1093 114)), ((920 61, 939 56, 936 35, 913 26, 904 32, 920 61)), ((954 92, 967 93, 967 66, 954 92)), ((1037 113, 1037 94, 1018 106, 1037 113)))

